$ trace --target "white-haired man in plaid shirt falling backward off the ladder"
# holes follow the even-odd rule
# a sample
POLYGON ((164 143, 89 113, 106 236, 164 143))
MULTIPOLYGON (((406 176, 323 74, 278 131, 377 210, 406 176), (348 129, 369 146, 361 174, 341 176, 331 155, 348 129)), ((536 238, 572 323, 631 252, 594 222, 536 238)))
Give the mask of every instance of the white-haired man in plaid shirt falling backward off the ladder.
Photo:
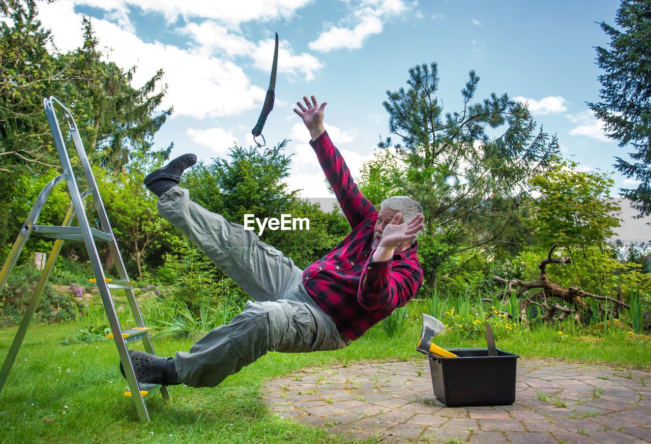
POLYGON ((214 387, 267 352, 344 348, 420 288, 416 238, 423 229, 421 205, 409 197, 389 197, 378 211, 359 191, 326 133, 326 103, 319 105, 314 96, 303 101, 294 111, 310 132, 352 231, 325 257, 300 270, 253 231, 190 201, 187 190, 176 186, 196 156, 180 156, 150 173, 145 185, 159 196, 159 213, 255 302, 247 301, 230 324, 210 331, 189 352, 158 357, 131 350, 140 382, 214 387))

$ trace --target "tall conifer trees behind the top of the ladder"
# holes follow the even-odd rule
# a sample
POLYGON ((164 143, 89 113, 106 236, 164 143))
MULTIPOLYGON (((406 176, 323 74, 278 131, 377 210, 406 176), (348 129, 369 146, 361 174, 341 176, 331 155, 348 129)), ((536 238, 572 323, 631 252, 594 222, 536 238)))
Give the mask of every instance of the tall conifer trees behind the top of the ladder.
MULTIPOLYGON (((20 194, 22 178, 37 182, 44 173, 60 171, 44 97, 54 95, 68 106, 90 160, 115 171, 122 170, 131 153, 150 150, 154 133, 172 110, 154 113, 165 94, 165 87, 157 86, 162 72, 139 89, 131 87, 135 68, 124 72, 102 61, 86 18, 83 46, 66 54, 51 53, 50 32, 38 21, 34 1, 7 1, 3 7, 11 18, 0 23, 0 171, 5 176, 0 180, 0 208, 8 215, 6 225, 0 224, 0 250, 6 251, 4 242, 14 239, 24 221, 18 216, 21 207, 13 208, 17 202, 11 199, 20 194)), ((167 158, 170 148, 154 157, 167 158)), ((69 154, 75 164, 76 153, 69 154)), ((40 223, 59 221, 44 214, 40 223)))

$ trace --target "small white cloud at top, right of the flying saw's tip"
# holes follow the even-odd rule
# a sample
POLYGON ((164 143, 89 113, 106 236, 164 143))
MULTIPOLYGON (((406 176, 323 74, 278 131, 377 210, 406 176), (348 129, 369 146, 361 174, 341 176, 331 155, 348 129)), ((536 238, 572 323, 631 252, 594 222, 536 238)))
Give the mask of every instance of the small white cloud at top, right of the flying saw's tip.
POLYGON ((385 21, 399 18, 417 3, 407 5, 402 0, 359 0, 348 5, 351 12, 346 14, 342 25, 333 25, 321 33, 308 44, 310 49, 324 52, 340 48, 359 49, 368 37, 382 32, 385 21))

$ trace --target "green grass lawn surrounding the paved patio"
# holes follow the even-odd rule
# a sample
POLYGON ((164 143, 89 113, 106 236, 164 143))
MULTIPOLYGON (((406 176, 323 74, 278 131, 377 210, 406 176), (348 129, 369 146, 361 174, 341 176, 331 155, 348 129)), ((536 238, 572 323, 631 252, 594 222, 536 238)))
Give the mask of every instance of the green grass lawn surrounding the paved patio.
MULTIPOLYGON (((415 352, 420 322, 388 339, 380 328, 344 350, 311 354, 271 353, 231 376, 219 387, 170 387, 172 402, 148 400, 152 421, 141 423, 126 381, 118 370, 111 340, 64 346, 76 323, 29 327, 18 359, 0 396, 0 443, 339 443, 325 428, 279 419, 262 398, 270 378, 310 366, 331 367, 368 360, 424 360, 415 352)), ((16 327, 0 329, 4 361, 16 327)), ((454 332, 436 338, 445 348, 485 347, 485 340, 460 339, 454 332)), ((190 341, 154 342, 159 355, 187 350, 190 341)), ((497 337, 497 347, 522 358, 566 359, 590 365, 651 370, 651 341, 626 331, 586 337, 579 331, 534 329, 497 337)))

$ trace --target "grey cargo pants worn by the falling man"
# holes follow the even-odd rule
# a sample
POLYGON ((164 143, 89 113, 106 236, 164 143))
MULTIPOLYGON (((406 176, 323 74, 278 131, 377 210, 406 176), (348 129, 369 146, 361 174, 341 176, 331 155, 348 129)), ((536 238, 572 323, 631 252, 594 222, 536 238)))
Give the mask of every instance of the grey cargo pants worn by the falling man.
POLYGON ((346 346, 332 318, 305 290, 303 271, 253 230, 209 212, 178 186, 161 195, 158 212, 256 301, 247 301, 230 324, 210 331, 189 352, 176 352, 184 384, 214 387, 267 352, 346 346))

